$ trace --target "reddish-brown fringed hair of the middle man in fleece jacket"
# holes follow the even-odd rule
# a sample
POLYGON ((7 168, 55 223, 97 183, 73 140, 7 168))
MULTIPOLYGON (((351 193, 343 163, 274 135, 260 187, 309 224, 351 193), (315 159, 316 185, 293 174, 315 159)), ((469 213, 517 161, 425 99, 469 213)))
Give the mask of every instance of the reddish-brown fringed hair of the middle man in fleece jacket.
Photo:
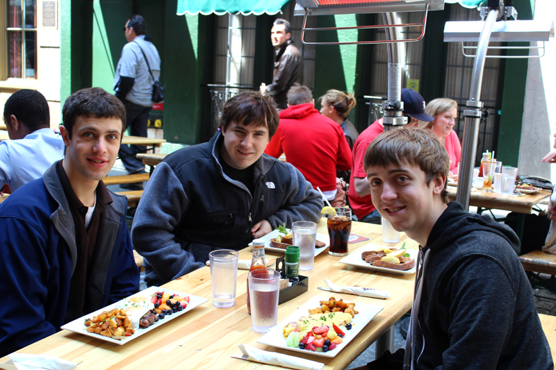
POLYGON ((270 139, 278 128, 276 104, 270 97, 263 96, 260 92, 241 92, 232 96, 224 104, 220 129, 226 131, 231 121, 236 121, 243 126, 254 124, 256 127, 267 127, 270 139))

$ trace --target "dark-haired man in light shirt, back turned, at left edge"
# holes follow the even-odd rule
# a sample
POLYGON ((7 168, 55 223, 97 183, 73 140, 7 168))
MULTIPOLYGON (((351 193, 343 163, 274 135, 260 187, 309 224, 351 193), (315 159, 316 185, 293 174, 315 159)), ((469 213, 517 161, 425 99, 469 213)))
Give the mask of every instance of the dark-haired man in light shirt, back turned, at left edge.
POLYGON ((64 157, 64 142, 50 128, 47 99, 35 90, 18 90, 4 106, 4 123, 11 140, 0 142, 0 190, 17 188, 41 178, 64 157))

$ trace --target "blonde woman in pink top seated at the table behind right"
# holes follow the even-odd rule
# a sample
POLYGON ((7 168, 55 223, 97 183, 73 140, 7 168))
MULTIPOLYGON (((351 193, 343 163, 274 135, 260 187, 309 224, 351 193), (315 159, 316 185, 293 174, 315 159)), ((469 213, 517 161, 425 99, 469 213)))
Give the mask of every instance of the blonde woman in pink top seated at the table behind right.
POLYGON ((419 128, 430 130, 448 151, 450 158, 450 175, 457 174, 459 160, 461 158, 461 143, 457 133, 452 130, 457 119, 457 103, 452 99, 434 99, 427 104, 425 112, 434 117, 434 121, 419 122, 419 128))

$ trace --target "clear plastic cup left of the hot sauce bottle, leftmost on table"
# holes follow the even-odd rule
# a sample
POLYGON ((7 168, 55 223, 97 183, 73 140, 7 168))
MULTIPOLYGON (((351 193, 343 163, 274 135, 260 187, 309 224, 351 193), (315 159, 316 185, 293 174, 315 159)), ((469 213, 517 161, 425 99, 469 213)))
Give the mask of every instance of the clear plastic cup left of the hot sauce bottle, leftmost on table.
POLYGON ((239 253, 229 249, 218 249, 208 253, 211 260, 211 283, 213 305, 218 308, 236 304, 239 253))

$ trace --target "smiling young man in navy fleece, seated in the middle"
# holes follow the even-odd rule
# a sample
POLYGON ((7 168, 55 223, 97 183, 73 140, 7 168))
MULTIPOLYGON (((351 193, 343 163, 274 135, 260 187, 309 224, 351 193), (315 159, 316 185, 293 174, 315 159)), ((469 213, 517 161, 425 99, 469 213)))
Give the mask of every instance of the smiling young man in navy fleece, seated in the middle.
POLYGON ((210 142, 156 166, 131 229, 147 285, 203 267, 215 249, 243 249, 281 224, 320 219, 322 198, 311 183, 263 154, 277 127, 275 103, 243 92, 224 105, 210 142))

